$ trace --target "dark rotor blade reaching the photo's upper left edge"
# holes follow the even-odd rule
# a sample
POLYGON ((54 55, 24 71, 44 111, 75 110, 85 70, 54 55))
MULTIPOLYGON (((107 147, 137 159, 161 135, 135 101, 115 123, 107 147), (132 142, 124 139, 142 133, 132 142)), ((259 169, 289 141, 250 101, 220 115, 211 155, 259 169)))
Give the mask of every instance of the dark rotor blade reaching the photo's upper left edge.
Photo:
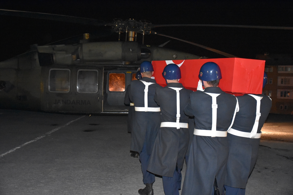
POLYGON ((16 11, 16 10, 6 10, 6 9, 0 9, 0 15, 54 20, 54 21, 79 23, 79 24, 93 25, 93 26, 104 26, 105 24, 107 24, 105 21, 91 19, 91 18, 81 18, 81 17, 69 16, 69 15, 58 15, 58 14, 50 14, 50 13, 38 13, 38 12, 16 11))

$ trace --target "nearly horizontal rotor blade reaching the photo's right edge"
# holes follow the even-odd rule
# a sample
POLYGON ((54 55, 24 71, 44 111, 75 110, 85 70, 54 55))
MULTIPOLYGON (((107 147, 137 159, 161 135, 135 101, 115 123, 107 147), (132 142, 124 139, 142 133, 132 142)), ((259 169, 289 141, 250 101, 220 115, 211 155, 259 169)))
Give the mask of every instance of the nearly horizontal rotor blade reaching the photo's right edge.
POLYGON ((155 28, 155 27, 172 27, 172 26, 206 26, 206 27, 236 27, 236 28, 262 28, 262 29, 293 30, 293 27, 287 27, 287 26, 249 26, 249 25, 222 25, 222 24, 163 24, 163 25, 149 25, 149 27, 151 27, 151 28, 155 28))

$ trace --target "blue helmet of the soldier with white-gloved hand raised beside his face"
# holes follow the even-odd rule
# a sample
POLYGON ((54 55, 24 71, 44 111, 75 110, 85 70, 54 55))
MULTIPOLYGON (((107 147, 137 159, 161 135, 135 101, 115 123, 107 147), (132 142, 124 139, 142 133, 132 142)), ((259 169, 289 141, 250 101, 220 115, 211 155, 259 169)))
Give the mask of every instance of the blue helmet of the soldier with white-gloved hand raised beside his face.
POLYGON ((222 79, 221 69, 219 65, 214 62, 207 62, 200 68, 200 74, 198 75, 202 81, 214 81, 222 79))

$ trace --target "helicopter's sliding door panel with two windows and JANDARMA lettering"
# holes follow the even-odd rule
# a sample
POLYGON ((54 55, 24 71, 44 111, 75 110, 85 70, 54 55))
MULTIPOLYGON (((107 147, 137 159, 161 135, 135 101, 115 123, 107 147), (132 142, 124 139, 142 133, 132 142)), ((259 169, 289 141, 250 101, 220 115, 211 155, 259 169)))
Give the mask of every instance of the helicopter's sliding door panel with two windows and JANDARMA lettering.
POLYGON ((42 67, 42 110, 47 112, 101 113, 103 67, 42 67))

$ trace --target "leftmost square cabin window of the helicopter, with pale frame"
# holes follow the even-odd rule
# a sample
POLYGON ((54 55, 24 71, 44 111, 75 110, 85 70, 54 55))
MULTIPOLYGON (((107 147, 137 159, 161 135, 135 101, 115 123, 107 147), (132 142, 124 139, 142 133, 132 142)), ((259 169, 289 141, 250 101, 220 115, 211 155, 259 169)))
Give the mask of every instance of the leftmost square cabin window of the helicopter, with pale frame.
POLYGON ((50 92, 69 92, 70 70, 69 69, 50 69, 49 72, 49 91, 50 92))

